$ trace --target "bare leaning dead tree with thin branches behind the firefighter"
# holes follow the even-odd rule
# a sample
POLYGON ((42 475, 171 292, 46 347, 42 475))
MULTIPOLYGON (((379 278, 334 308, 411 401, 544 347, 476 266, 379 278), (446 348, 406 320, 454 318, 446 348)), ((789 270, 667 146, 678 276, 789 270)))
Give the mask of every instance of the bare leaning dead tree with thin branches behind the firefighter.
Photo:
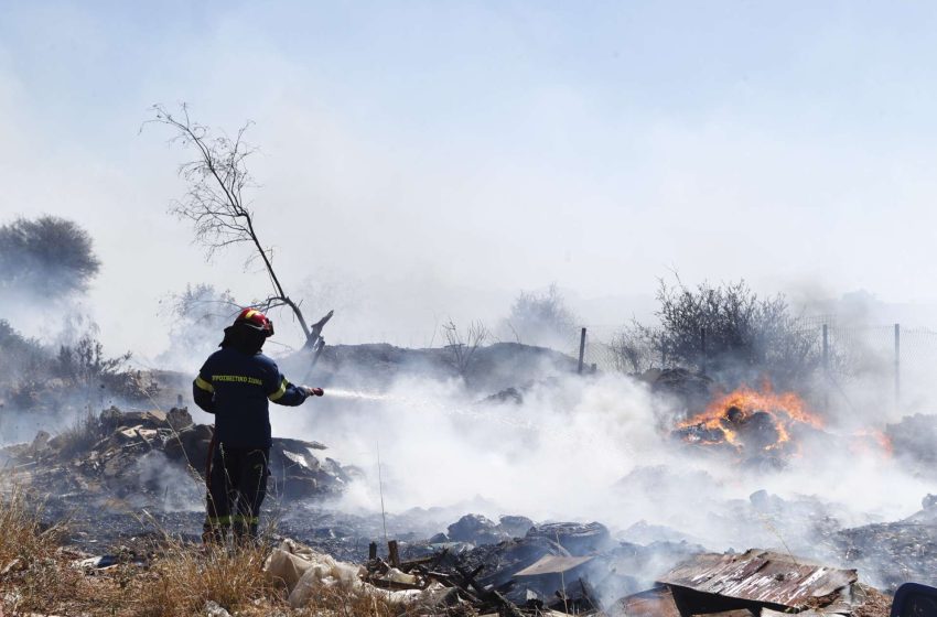
POLYGON ((334 311, 310 326, 300 302, 287 294, 273 269, 272 249, 261 243, 257 235, 254 210, 245 201, 245 192, 257 187, 246 165, 247 158, 257 149, 244 141, 244 133, 251 123, 247 122, 234 138, 229 138, 224 133, 213 134, 208 127, 192 120, 184 104, 179 115, 169 112, 161 105, 152 109, 155 118, 151 122, 165 125, 175 131, 171 143, 180 143, 195 153, 192 161, 180 165, 179 175, 189 183, 189 191, 182 199, 173 203, 171 212, 192 223, 196 241, 205 247, 206 259, 234 245, 244 243, 251 248, 245 266, 260 260, 272 288, 256 307, 269 311, 288 306, 305 335, 304 348, 312 351, 315 362, 325 345, 322 328, 334 311))

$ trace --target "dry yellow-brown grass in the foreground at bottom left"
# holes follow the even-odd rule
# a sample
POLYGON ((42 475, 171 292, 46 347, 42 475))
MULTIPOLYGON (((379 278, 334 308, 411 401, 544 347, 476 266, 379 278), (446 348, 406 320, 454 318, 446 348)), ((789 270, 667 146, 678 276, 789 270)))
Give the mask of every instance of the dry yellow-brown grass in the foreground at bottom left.
POLYGON ((320 588, 291 609, 263 572, 267 544, 201 546, 164 537, 149 569, 130 563, 85 572, 60 545, 62 529, 42 523, 41 501, 15 488, 0 496, 0 615, 180 617, 214 602, 238 617, 398 617, 408 606, 343 585, 320 588), (39 504, 39 506, 36 505, 39 504))

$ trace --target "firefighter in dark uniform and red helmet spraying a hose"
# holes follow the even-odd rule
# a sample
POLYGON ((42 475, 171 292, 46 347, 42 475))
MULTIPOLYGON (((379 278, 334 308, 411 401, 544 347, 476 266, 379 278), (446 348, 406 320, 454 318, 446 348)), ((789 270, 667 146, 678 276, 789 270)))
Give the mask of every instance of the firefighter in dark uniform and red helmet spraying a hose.
POLYGON ((273 322, 245 308, 225 328, 220 349, 208 356, 192 386, 195 403, 215 414, 205 478, 206 541, 224 540, 229 531, 237 539, 257 537, 272 443, 268 401, 300 405, 323 394, 322 388, 290 383, 260 353, 272 335, 273 322))

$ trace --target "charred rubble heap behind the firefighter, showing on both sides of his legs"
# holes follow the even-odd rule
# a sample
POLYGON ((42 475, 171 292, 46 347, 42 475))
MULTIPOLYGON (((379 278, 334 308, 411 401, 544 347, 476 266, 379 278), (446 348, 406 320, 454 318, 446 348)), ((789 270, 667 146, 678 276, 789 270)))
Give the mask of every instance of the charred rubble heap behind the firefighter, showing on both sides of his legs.
MULTIPOLYGON (((7 446, 0 459, 31 486, 63 497, 159 508, 172 492, 201 508, 213 433, 184 408, 164 413, 111 407, 78 429, 54 437, 41 431, 32 443, 7 446)), ((313 454, 323 450, 316 442, 274 437, 269 492, 286 500, 341 494, 359 472, 313 454)))

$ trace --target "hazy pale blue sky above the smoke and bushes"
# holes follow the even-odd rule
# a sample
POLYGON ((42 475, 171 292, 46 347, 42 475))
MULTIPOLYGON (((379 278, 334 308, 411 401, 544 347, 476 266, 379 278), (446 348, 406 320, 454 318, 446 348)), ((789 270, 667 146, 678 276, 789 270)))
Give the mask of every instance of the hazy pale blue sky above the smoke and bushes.
POLYGON ((182 100, 256 122, 262 231, 288 280, 340 290, 340 339, 418 343, 554 281, 584 321, 624 322, 671 270, 937 300, 933 3, 0 11, 0 218, 91 231, 115 346, 155 351, 138 324, 189 282, 262 293, 244 256, 205 263, 166 215, 184 154, 138 130, 182 100))

